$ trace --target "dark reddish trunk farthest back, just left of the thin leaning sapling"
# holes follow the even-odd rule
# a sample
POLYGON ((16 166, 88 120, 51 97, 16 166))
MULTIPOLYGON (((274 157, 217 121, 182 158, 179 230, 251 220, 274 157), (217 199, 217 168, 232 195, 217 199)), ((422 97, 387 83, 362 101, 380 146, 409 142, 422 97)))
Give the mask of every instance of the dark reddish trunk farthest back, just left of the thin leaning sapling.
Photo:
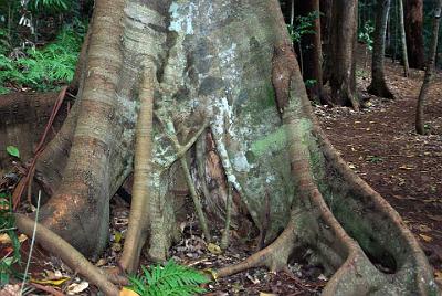
POLYGON ((407 50, 410 67, 422 70, 423 49, 423 0, 404 0, 407 50))

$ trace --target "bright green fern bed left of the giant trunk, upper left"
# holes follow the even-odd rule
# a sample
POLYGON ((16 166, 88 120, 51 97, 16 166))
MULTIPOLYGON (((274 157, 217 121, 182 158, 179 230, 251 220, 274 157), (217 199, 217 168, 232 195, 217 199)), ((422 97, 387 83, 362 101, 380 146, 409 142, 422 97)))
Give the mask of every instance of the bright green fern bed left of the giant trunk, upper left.
POLYGON ((7 93, 6 83, 15 87, 51 91, 74 77, 75 64, 86 25, 66 25, 53 43, 42 49, 31 47, 17 54, 0 52, 0 94, 7 93))

